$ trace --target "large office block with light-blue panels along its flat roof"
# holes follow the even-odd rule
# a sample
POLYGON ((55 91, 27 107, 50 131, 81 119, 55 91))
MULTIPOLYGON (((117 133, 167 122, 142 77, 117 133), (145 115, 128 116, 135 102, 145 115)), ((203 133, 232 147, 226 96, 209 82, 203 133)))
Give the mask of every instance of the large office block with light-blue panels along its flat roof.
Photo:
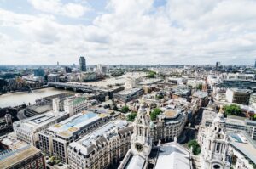
POLYGON ((112 120, 112 115, 96 114, 90 111, 73 115, 39 132, 39 147, 46 155, 54 155, 57 159, 67 163, 68 144, 110 120, 112 120))

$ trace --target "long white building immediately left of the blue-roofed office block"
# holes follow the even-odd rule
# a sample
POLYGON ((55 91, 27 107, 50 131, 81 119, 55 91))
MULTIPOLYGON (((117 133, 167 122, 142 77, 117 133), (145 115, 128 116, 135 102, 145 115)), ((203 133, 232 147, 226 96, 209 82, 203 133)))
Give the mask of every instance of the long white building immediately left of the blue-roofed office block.
POLYGON ((14 132, 18 139, 27 144, 38 145, 38 132, 45 128, 54 125, 57 122, 63 121, 69 117, 66 112, 55 113, 49 111, 42 115, 36 115, 22 121, 13 123, 14 132))

